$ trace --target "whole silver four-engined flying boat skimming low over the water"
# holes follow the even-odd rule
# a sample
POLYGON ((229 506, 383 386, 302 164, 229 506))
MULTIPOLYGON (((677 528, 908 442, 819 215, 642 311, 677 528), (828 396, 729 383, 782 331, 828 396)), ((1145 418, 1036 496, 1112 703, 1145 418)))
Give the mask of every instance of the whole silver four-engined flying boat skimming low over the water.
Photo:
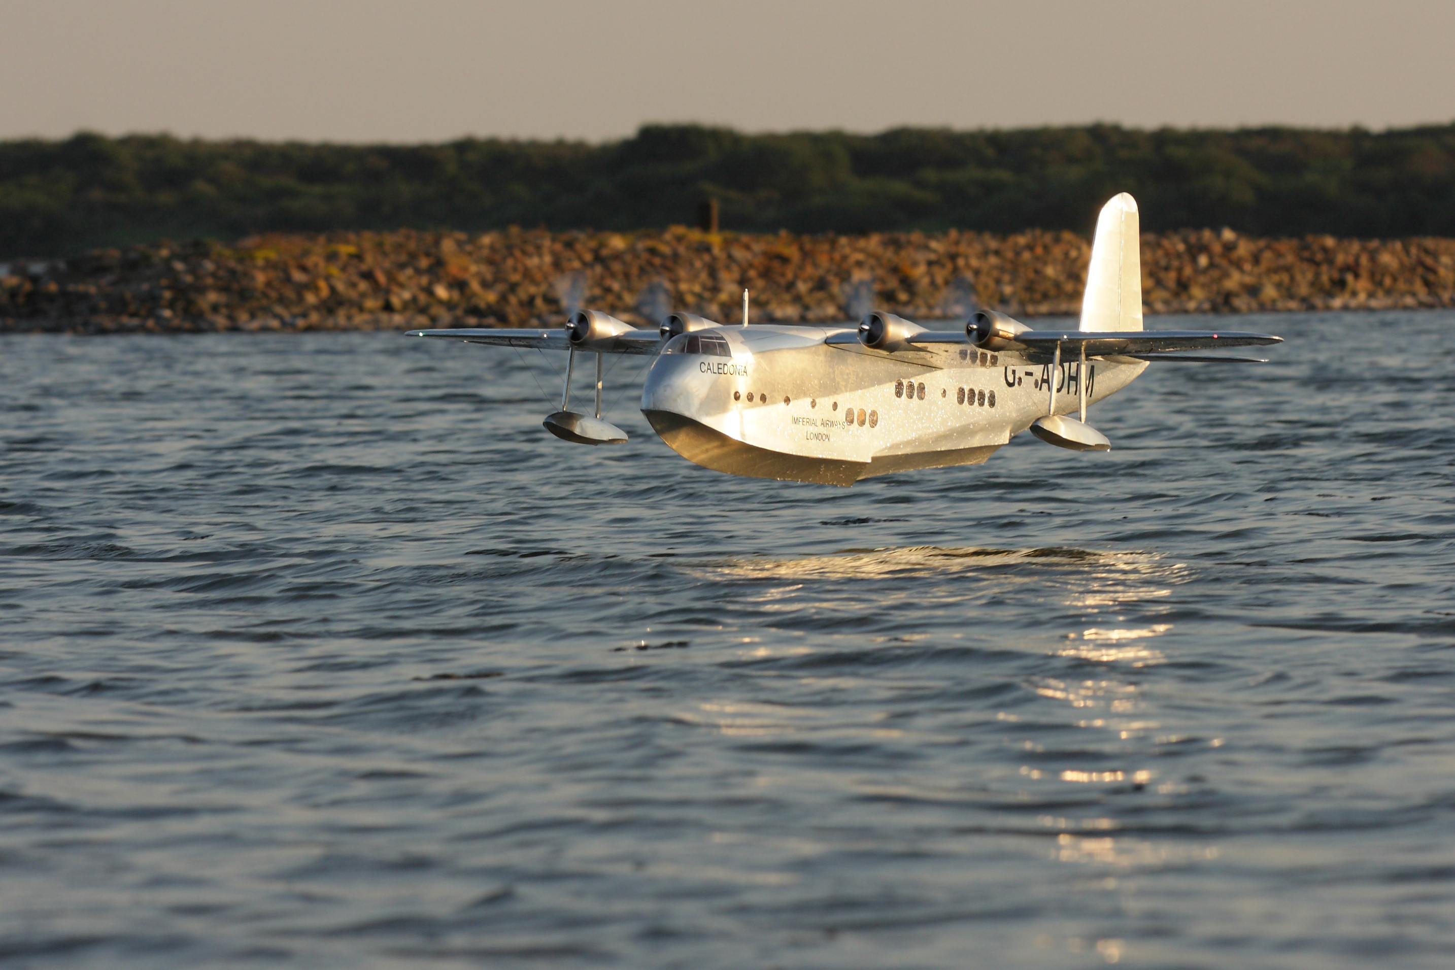
POLYGON ((1075 329, 1036 329, 985 308, 954 329, 882 310, 857 327, 749 326, 744 291, 736 324, 669 313, 650 330, 576 310, 559 330, 407 336, 563 350, 560 409, 544 426, 585 445, 627 441, 601 414, 605 355, 647 355, 642 413, 652 429, 688 461, 733 476, 851 486, 896 471, 981 464, 1023 430, 1072 451, 1107 451, 1112 444, 1087 423, 1087 407, 1151 364, 1261 364, 1187 350, 1282 342, 1266 333, 1144 330, 1139 233, 1131 195, 1101 208, 1075 329), (592 414, 570 410, 582 353, 595 355, 592 414))

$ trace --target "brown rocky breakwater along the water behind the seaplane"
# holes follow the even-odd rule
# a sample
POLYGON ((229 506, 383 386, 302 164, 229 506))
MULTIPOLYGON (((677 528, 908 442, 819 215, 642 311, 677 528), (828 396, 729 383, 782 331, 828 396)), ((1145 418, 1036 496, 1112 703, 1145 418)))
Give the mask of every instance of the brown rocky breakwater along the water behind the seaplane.
MULTIPOLYGON (((1071 233, 872 236, 333 233, 97 250, 0 265, 9 332, 556 326, 578 300, 645 324, 668 307, 730 323, 834 321, 869 305, 956 317, 972 301, 1077 313, 1090 244, 1071 233)), ((1455 305, 1455 240, 1142 236, 1151 313, 1455 305)))

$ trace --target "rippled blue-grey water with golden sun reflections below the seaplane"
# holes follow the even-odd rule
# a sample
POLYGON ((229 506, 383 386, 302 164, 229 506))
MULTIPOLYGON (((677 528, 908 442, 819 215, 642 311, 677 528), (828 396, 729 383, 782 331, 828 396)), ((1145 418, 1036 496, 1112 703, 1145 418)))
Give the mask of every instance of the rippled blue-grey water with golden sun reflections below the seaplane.
POLYGON ((0 340, 0 964, 1448 966, 1455 314, 1237 323, 851 490, 508 349, 0 340))

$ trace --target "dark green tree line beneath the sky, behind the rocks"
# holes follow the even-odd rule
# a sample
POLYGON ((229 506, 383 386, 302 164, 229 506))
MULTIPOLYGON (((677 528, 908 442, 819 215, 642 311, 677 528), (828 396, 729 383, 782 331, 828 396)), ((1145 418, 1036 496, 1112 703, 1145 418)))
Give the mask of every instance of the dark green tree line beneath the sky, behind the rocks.
POLYGON ((172 135, 0 141, 0 257, 265 231, 508 225, 725 231, 1027 228, 1090 233, 1116 192, 1148 231, 1455 236, 1455 125, 1132 129, 1116 125, 744 134, 423 145, 172 135))

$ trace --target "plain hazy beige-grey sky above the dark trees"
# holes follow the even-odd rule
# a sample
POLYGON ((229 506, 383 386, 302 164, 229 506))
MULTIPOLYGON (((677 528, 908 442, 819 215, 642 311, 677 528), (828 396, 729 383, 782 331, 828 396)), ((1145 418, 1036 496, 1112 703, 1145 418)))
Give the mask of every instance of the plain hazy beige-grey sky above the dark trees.
POLYGON ((0 138, 1385 128, 1455 119, 1452 42, 1452 0, 48 0, 7 4, 0 138))

